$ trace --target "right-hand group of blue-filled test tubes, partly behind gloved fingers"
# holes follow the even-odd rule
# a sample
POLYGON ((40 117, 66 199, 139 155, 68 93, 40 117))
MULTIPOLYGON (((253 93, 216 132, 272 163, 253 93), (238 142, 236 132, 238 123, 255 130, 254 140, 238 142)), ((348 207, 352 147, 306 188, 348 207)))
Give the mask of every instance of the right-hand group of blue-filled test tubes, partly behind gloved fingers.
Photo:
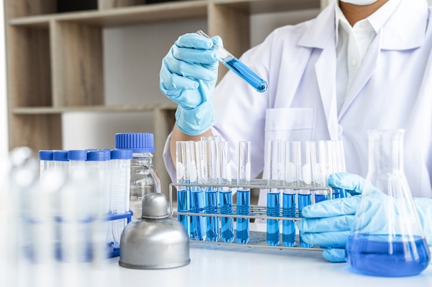
MULTIPOLYGON (((304 207, 333 198, 347 196, 344 190, 326 189, 331 173, 346 171, 342 140, 284 141, 268 140, 266 145, 266 167, 264 176, 268 180, 283 182, 281 188, 267 189, 267 215, 302 217, 304 207), (293 189, 293 186, 309 186, 319 189, 293 189), (285 187, 284 187, 285 185, 285 187), (291 188, 290 188, 291 187, 291 188)), ((280 220, 266 220, 266 241, 270 246, 279 245, 280 220)), ((282 220, 282 244, 293 247, 296 244, 295 220, 282 220)), ((302 240, 300 246, 313 247, 302 240)))

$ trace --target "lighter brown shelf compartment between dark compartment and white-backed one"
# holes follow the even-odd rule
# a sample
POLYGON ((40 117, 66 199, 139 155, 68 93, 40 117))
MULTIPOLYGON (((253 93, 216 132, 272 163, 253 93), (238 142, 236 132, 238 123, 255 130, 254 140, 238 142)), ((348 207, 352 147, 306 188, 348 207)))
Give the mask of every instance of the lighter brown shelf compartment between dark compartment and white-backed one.
POLYGON ((100 27, 53 22, 54 107, 104 105, 104 65, 100 27))

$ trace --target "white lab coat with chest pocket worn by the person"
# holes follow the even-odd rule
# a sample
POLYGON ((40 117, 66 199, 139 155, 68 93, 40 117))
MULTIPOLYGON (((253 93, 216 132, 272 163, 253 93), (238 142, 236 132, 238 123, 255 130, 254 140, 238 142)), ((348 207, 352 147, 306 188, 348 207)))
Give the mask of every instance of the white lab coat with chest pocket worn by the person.
MULTIPOLYGON (((432 24, 424 0, 402 0, 371 43, 339 114, 336 103, 335 7, 273 31, 241 60, 268 82, 255 92, 228 72, 214 93, 213 133, 252 142, 252 177, 264 168, 264 143, 343 140, 346 169, 365 177, 368 129, 406 129, 404 167, 411 192, 431 197, 432 24)), ((168 138, 169 140, 169 138, 168 138)), ((167 150, 166 167, 175 170, 167 150)), ((236 174, 236 173, 233 173, 236 174)), ((260 196, 259 205, 265 205, 260 196)))

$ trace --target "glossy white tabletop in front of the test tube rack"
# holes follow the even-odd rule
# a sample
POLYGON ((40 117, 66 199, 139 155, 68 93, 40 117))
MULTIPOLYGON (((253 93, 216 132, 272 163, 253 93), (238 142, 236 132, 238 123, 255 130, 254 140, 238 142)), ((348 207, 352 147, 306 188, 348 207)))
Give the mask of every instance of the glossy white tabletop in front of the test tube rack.
POLYGON ((413 277, 356 274, 346 263, 330 263, 321 251, 247 248, 192 242, 190 264, 164 270, 135 270, 108 259, 109 286, 432 286, 432 266, 413 277))

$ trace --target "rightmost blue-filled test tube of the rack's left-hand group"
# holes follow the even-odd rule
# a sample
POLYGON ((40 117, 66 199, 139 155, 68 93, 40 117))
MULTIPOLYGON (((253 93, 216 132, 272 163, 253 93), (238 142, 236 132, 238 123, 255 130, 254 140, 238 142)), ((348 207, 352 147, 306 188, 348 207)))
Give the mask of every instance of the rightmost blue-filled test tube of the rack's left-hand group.
MULTIPOLYGON (((251 142, 239 141, 237 145, 237 182, 245 183, 251 180, 251 142)), ((249 215, 251 209, 251 189, 246 187, 237 188, 237 214, 249 215)), ((249 242, 249 219, 237 217, 236 238, 237 243, 247 244, 249 242)))

